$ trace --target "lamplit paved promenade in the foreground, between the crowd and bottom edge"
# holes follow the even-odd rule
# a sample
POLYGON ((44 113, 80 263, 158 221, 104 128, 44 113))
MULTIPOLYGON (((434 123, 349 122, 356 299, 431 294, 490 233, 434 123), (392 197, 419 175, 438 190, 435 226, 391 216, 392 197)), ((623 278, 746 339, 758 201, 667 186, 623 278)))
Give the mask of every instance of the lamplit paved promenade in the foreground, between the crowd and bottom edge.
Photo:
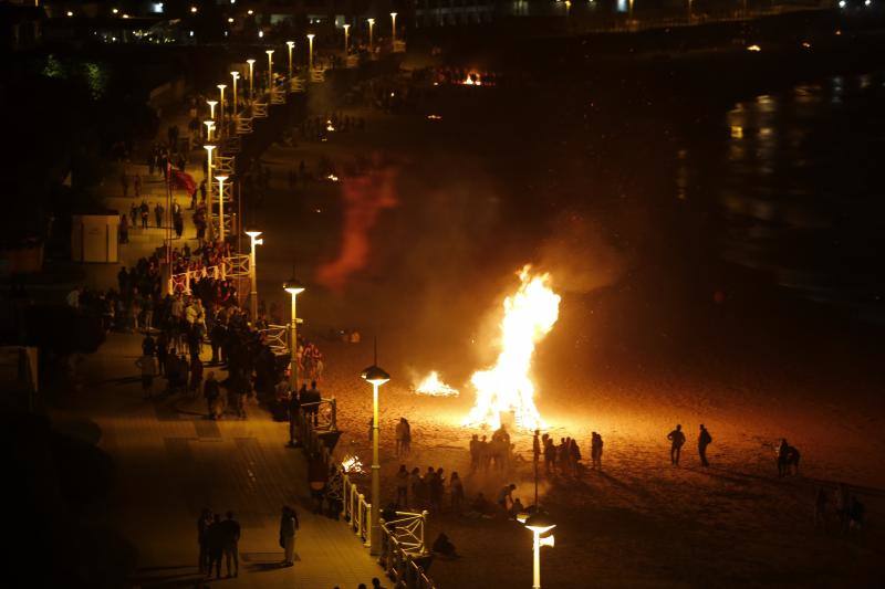
POLYGON ((225 586, 354 588, 381 577, 347 526, 309 512, 305 461, 284 446, 285 423, 254 406, 247 421, 210 421, 200 399, 144 400, 133 365, 139 341, 111 335, 82 367, 84 392, 54 416, 87 418, 102 430, 100 445, 117 466, 113 525, 139 553, 136 585, 199 583, 196 520, 204 506, 232 509, 242 525, 240 576, 223 579, 225 586), (279 566, 283 504, 294 506, 301 522, 291 568, 279 566))

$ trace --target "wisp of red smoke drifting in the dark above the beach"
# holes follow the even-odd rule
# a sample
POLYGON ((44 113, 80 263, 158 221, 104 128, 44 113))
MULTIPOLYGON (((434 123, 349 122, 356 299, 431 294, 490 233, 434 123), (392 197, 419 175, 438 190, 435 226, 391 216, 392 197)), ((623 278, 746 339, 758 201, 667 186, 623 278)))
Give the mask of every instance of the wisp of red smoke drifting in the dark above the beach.
POLYGON ((321 265, 316 280, 327 288, 341 291, 354 272, 363 270, 368 260, 368 232, 378 213, 398 203, 394 191, 396 173, 384 168, 365 176, 342 179, 344 223, 337 259, 321 265))

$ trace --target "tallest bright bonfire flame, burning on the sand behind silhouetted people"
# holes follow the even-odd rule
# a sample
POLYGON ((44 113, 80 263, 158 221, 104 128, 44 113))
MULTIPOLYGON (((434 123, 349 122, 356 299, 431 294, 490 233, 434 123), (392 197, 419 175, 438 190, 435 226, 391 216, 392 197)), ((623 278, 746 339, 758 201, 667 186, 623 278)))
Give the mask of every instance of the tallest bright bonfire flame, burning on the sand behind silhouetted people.
POLYGON ((513 412, 517 425, 533 430, 544 422, 534 407, 534 383, 529 376, 534 345, 546 336, 560 314, 560 295, 550 286, 550 274, 520 271, 519 290, 504 299, 501 351, 492 368, 473 372, 470 382, 477 400, 465 420, 467 425, 501 425, 501 413, 513 412))

